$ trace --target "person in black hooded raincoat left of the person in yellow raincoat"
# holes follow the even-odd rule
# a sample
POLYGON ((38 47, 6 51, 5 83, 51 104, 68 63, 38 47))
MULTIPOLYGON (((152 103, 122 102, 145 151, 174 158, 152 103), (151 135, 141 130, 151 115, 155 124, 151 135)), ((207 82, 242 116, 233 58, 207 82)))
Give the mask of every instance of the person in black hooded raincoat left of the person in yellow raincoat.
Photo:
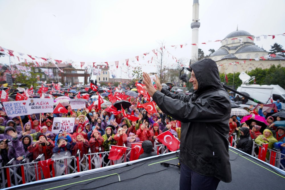
POLYGON ((241 131, 241 136, 239 142, 234 147, 251 155, 253 141, 249 134, 249 128, 241 127, 240 131, 241 131))

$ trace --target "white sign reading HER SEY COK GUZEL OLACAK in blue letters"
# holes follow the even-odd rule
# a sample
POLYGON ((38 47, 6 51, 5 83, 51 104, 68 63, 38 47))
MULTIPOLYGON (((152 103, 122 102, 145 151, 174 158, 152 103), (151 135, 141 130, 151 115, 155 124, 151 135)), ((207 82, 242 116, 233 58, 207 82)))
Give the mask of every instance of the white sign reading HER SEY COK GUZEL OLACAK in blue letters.
POLYGON ((26 100, 3 102, 3 106, 8 117, 28 115, 26 100))

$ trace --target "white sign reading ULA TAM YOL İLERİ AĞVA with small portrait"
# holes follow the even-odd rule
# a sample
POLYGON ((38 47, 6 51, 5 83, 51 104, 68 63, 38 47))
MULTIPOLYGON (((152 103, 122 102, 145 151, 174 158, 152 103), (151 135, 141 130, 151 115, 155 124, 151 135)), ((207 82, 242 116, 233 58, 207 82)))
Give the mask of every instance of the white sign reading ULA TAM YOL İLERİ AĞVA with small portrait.
POLYGON ((74 122, 74 117, 55 117, 52 123, 52 133, 73 132, 74 122))

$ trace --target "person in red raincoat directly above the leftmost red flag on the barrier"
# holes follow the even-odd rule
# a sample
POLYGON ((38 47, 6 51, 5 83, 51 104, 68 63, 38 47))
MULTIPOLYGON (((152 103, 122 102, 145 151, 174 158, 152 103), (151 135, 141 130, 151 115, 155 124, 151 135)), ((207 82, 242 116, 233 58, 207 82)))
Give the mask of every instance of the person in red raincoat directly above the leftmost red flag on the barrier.
POLYGON ((38 155, 44 154, 45 160, 48 160, 52 156, 52 149, 54 148, 54 143, 50 138, 42 133, 36 135, 36 143, 31 144, 28 147, 28 151, 33 153, 33 160, 35 160, 38 155))

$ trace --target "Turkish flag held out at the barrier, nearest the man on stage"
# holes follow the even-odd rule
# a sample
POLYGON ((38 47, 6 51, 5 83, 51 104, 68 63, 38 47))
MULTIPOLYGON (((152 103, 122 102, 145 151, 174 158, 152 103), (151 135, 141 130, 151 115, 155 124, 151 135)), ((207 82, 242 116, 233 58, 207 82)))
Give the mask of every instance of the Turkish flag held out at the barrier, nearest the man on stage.
POLYGON ((170 151, 176 151, 180 146, 180 141, 171 134, 169 130, 156 137, 162 144, 167 146, 170 151))

